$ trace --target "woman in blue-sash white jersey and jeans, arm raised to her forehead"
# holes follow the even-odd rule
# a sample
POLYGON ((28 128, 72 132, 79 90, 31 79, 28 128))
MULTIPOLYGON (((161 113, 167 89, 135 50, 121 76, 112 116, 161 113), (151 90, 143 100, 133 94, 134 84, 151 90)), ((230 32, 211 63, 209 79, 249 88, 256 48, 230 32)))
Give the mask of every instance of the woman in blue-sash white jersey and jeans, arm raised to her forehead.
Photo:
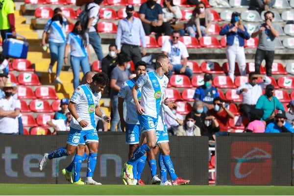
POLYGON ((64 15, 60 8, 54 9, 54 15, 49 20, 44 28, 42 35, 42 46, 46 46, 46 36, 49 32, 49 49, 51 55, 51 61, 48 68, 48 73, 52 73, 52 68, 57 61, 56 77, 54 83, 62 84, 59 75, 63 65, 64 49, 66 44, 65 26, 72 24, 72 20, 64 15), (63 18, 64 17, 64 18, 63 18))

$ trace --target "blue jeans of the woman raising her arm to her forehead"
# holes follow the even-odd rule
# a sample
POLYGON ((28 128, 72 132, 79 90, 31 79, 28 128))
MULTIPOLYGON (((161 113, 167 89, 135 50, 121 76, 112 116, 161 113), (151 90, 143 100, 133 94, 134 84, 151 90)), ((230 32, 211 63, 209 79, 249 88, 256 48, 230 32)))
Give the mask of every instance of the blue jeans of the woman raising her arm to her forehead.
POLYGON ((51 55, 50 65, 53 66, 57 61, 56 76, 60 75, 61 68, 63 65, 64 49, 66 43, 55 43, 49 42, 49 49, 51 55))

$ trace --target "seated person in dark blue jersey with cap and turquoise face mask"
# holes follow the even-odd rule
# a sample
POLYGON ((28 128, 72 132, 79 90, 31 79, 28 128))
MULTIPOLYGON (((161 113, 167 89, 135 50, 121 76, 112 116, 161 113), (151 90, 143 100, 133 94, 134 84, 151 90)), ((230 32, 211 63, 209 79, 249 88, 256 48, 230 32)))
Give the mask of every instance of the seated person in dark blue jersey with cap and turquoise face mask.
POLYGON ((212 86, 212 74, 205 73, 204 84, 197 87, 194 99, 200 100, 203 103, 203 112, 206 113, 209 109, 213 109, 213 99, 220 97, 218 89, 212 86))

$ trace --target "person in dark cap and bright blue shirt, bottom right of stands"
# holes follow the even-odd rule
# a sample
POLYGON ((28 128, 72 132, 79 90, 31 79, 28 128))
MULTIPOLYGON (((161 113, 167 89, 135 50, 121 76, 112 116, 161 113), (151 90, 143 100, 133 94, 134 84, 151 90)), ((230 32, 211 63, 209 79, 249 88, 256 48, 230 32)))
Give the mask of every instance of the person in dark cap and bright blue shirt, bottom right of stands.
POLYGON ((293 133, 292 124, 286 122, 287 117, 284 110, 278 110, 275 115, 275 121, 269 123, 265 133, 293 133))

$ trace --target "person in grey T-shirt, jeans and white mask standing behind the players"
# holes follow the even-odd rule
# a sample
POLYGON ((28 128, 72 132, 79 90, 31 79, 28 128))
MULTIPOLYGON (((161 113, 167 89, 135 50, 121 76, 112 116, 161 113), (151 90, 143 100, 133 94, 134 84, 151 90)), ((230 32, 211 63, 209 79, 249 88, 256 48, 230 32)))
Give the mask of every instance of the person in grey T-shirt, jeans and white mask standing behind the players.
MULTIPOLYGON (((129 79, 131 73, 128 71, 130 68, 131 59, 123 54, 119 53, 118 55, 118 66, 115 67, 111 72, 110 78, 110 100, 111 100, 111 123, 110 131, 115 131, 118 126, 118 131, 122 131, 120 124, 120 116, 118 111, 118 93, 121 89, 123 82, 129 79)), ((123 111, 126 111, 125 102, 123 103, 123 111)), ((123 115, 124 117, 126 114, 123 115)))

